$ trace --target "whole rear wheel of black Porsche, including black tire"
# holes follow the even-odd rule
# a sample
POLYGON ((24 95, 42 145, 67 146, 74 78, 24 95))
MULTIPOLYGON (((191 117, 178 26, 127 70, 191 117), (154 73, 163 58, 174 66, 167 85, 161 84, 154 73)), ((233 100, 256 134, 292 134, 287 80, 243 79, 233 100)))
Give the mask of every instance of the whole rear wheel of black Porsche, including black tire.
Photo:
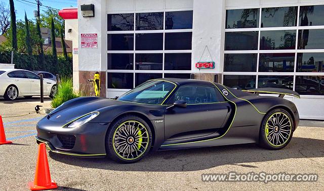
POLYGON ((262 120, 259 133, 259 146, 269 150, 286 147, 293 137, 294 120, 284 109, 268 112, 262 120))

